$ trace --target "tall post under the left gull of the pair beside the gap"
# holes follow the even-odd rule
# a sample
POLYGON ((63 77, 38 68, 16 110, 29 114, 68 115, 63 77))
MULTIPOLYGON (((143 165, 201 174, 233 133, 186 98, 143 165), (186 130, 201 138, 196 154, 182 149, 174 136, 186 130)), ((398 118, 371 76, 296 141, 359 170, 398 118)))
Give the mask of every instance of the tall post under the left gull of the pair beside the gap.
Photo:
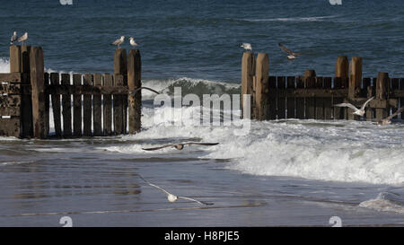
MULTIPOLYGON (((127 50, 115 49, 114 55, 114 86, 123 86, 127 75, 127 50)), ((114 104, 114 132, 117 135, 126 133, 126 102, 127 97, 122 94, 113 95, 114 104), (125 98, 125 101, 124 101, 125 98)))

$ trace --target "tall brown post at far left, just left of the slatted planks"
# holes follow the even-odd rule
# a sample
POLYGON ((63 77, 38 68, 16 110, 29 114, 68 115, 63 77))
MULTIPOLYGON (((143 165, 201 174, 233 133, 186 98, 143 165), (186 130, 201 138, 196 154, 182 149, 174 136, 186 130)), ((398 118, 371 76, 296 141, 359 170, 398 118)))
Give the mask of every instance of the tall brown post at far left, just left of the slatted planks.
POLYGON ((32 92, 32 119, 33 136, 46 138, 47 122, 45 111, 45 84, 43 51, 40 47, 31 48, 31 92, 32 92))

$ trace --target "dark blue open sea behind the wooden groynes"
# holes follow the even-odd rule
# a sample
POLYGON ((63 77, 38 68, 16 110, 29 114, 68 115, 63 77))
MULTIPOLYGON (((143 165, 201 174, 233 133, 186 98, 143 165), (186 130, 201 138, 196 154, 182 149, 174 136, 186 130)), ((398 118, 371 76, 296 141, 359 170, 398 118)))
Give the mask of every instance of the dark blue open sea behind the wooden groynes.
MULTIPOLYGON (((0 57, 13 31, 29 32, 45 66, 111 72, 121 35, 141 43, 144 78, 239 83, 241 42, 270 58, 270 74, 332 75, 338 56, 364 58, 364 75, 404 76, 404 1, 2 1, 0 57), (288 61, 282 42, 303 56, 288 61)), ((128 40, 123 46, 129 48, 128 40)))

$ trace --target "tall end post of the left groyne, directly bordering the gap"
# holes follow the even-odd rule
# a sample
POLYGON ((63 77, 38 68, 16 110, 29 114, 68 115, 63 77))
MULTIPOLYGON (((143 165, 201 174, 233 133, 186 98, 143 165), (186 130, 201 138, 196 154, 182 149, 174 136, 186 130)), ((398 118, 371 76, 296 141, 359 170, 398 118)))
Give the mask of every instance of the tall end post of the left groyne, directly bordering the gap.
MULTIPOLYGON (((130 49, 127 57, 127 86, 130 92, 142 86, 142 61, 138 49, 130 49)), ((142 91, 127 95, 129 134, 141 129, 142 91)))

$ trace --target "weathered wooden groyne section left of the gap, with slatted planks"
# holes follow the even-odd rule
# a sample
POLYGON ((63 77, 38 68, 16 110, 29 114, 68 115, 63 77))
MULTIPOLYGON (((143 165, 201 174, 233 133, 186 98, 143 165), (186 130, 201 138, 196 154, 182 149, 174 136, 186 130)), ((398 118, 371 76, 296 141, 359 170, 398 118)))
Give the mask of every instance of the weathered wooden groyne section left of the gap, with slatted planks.
POLYGON ((56 137, 140 131, 141 92, 130 93, 141 87, 137 49, 115 50, 113 74, 48 74, 42 48, 11 46, 0 83, 0 136, 48 138, 50 102, 56 137))

